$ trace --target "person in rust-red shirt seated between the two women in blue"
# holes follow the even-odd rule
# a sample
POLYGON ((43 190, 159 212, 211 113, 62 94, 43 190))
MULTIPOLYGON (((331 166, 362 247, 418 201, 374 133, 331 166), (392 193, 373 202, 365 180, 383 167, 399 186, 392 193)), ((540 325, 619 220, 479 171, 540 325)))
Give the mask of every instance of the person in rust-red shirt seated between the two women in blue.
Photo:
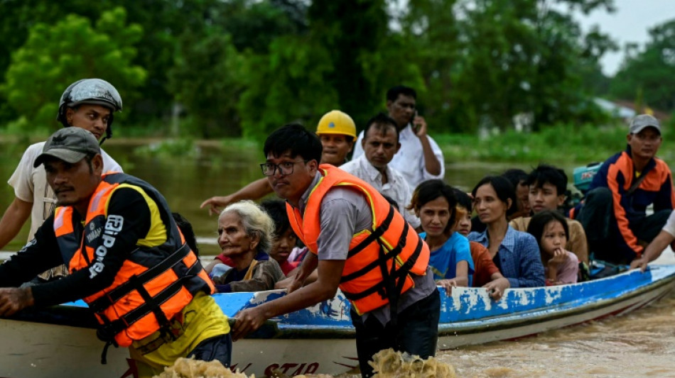
MULTIPOLYGON (((457 222, 453 230, 465 237, 471 232, 471 198, 460 189, 454 188, 457 198, 457 222)), ((485 287, 493 298, 499 297, 504 290, 511 287, 509 280, 502 276, 500 269, 492 262, 490 252, 482 244, 474 241, 469 242, 471 258, 475 272, 473 274, 473 287, 485 287)), ((495 298, 497 299, 497 298, 495 298)))

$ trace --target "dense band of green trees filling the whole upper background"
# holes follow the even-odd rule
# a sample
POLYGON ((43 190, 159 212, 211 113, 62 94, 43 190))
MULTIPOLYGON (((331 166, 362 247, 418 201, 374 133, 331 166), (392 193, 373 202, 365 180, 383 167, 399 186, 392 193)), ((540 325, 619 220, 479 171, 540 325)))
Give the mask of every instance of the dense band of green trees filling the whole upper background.
MULTIPOLYGON (((127 123, 172 130, 180 109, 180 134, 201 138, 264 138, 291 121, 313 128, 332 109, 362 128, 397 84, 417 90, 433 132, 507 130, 514 118, 537 130, 598 119, 592 97, 609 87, 598 62, 615 48, 599 28, 581 30, 571 13, 612 11, 613 0, 0 0, 0 7, 7 10, 0 50, 11 52, 11 61, 0 54, 0 127, 18 116, 51 122, 53 111, 42 107, 55 109, 65 84, 99 76, 122 92, 127 123)), ((655 33, 662 36, 652 50, 663 60, 672 38, 655 33)), ((626 69, 652 65, 647 51, 626 69)), ((612 91, 635 93, 654 77, 623 80, 612 91)), ((645 90, 645 100, 652 104, 657 92, 667 97, 645 90)))

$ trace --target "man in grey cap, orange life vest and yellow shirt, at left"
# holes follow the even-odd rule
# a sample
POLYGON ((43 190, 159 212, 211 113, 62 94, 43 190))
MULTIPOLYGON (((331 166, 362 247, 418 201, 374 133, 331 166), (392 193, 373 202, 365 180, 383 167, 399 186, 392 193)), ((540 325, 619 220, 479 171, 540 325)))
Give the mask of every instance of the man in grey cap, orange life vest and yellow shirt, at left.
POLYGON ((57 207, 0 265, 0 316, 84 299, 100 323, 103 358, 109 345, 129 347, 141 377, 178 357, 229 365, 227 318, 163 196, 127 174, 102 177, 99 143, 82 128, 58 130, 33 164, 45 166, 57 207), (64 263, 67 277, 17 287, 64 263))

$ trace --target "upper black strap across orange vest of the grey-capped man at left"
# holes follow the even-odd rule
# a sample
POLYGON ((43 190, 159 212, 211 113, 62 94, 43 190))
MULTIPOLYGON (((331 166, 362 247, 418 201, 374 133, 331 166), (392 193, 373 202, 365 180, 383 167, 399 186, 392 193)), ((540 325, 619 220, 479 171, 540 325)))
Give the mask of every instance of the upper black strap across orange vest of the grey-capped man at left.
POLYGON ((182 261, 183 258, 185 258, 185 256, 188 255, 189 252, 190 247, 188 247, 187 244, 181 245, 180 248, 178 248, 178 250, 175 250, 175 252, 173 252, 171 255, 168 255, 166 259, 164 259, 158 265, 155 265, 154 267, 151 267, 147 269, 145 272, 136 276, 135 282, 132 282, 132 280, 124 282, 124 284, 120 284, 118 287, 112 289, 104 296, 100 296, 95 301, 92 301, 89 304, 90 308, 95 313, 102 312, 104 309, 108 308, 109 306, 112 306, 115 302, 119 301, 121 297, 125 296, 126 294, 129 294, 134 289, 137 289, 139 283, 142 286, 143 284, 149 282, 151 279, 154 279, 163 272, 166 272, 168 269, 171 269, 173 266, 178 264, 178 262, 182 261))

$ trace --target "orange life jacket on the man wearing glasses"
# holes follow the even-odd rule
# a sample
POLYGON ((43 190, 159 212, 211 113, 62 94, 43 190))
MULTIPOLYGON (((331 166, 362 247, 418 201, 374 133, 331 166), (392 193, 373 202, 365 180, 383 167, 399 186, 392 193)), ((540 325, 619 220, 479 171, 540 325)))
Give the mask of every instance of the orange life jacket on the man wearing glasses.
POLYGON ((413 286, 410 272, 426 274, 428 245, 367 182, 332 165, 320 165, 319 172, 322 177, 311 191, 304 215, 286 204, 293 231, 312 253, 318 254, 316 240, 321 232, 323 196, 333 187, 345 187, 363 194, 372 212, 372 228, 352 236, 340 290, 358 314, 394 301, 413 286))

